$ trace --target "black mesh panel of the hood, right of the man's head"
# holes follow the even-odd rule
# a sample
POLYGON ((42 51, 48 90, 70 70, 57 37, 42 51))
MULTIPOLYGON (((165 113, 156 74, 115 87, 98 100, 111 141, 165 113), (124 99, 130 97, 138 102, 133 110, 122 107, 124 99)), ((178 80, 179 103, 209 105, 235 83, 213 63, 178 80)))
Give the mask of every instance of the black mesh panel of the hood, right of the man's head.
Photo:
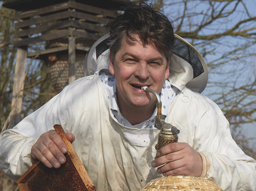
POLYGON ((199 57, 197 56, 196 52, 183 41, 175 39, 173 53, 176 56, 179 56, 180 58, 184 59, 186 62, 190 63, 190 65, 193 68, 193 78, 204 73, 203 65, 199 57))

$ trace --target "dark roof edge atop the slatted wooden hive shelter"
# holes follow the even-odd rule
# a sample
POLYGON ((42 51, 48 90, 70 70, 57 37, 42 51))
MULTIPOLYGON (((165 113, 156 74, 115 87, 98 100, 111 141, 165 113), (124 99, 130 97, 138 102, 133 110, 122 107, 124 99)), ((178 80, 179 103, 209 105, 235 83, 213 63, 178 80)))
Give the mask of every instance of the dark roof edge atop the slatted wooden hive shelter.
MULTIPOLYGON (((55 5, 55 4, 59 4, 59 3, 67 2, 67 1, 68 0, 44 0, 44 1, 9 0, 6 3, 4 3, 3 6, 10 8, 10 9, 18 10, 18 11, 27 11, 27 10, 38 9, 41 7, 55 5)), ((91 6, 96 6, 99 8, 110 9, 110 10, 111 9, 119 10, 119 8, 121 6, 124 6, 127 3, 131 3, 130 0, 93 0, 93 1, 75 0, 75 2, 86 4, 86 5, 91 5, 91 6)))

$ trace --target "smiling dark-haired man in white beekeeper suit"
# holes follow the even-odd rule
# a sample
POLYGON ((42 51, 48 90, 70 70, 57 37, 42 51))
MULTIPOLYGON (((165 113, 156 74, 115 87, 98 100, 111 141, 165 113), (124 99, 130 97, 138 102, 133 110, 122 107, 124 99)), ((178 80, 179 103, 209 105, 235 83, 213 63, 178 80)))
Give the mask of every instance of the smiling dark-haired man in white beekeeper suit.
POLYGON ((172 54, 168 18, 141 2, 108 27, 109 56, 95 47, 88 53, 96 56, 94 75, 74 81, 1 135, 2 171, 17 180, 36 160, 49 168, 65 163, 66 145, 52 130, 60 124, 98 191, 139 190, 162 175, 201 176, 226 191, 255 189, 256 161, 233 141, 217 105, 185 87, 204 70, 197 74, 172 54), (165 121, 181 130, 179 143, 157 153, 156 98, 142 86, 161 93, 165 121))

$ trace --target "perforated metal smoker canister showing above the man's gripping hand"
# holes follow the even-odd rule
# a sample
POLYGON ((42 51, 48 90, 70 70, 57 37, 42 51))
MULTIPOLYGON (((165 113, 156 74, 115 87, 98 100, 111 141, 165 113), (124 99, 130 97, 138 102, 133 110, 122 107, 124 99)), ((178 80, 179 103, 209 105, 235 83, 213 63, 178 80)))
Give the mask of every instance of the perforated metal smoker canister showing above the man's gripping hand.
MULTIPOLYGON (((158 135, 157 150, 167 144, 178 142, 178 134, 180 133, 180 130, 164 121, 160 122, 160 127, 161 130, 158 135)), ((158 157, 156 156, 155 159, 156 158, 158 157)))

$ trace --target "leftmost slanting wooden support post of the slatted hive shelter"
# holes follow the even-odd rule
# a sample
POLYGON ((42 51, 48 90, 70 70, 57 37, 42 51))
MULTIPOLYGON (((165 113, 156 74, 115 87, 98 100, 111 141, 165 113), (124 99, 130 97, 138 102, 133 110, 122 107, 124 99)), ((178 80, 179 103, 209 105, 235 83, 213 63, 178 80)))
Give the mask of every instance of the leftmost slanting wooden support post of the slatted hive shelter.
POLYGON ((11 105, 12 106, 14 105, 14 102, 15 102, 17 96, 19 96, 19 98, 16 101, 15 106, 13 108, 13 112, 11 114, 10 128, 13 128, 15 125, 17 125, 20 122, 23 91, 21 91, 21 92, 19 92, 19 91, 20 91, 21 86, 22 86, 21 90, 23 90, 23 88, 24 88, 24 83, 22 83, 22 82, 25 77, 26 58, 27 58, 27 46, 18 47, 11 105))

